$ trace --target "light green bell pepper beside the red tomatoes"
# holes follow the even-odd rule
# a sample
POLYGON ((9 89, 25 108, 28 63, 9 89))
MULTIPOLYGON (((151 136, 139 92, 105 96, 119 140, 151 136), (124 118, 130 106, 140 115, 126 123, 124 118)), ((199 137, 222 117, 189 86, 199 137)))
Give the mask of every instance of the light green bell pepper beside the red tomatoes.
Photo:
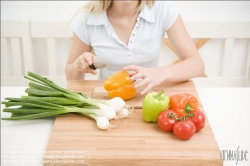
POLYGON ((170 99, 163 91, 150 92, 143 100, 142 118, 145 122, 157 122, 159 114, 167 110, 170 99))

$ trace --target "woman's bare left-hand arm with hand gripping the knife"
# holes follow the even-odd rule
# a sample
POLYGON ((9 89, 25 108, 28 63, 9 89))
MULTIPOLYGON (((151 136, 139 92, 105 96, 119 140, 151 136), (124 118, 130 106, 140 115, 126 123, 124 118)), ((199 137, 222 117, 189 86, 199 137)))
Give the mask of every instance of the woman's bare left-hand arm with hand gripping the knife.
POLYGON ((89 68, 89 65, 97 60, 96 56, 90 53, 91 49, 91 46, 82 42, 75 33, 73 34, 73 43, 65 67, 67 80, 84 79, 85 73, 96 74, 95 70, 89 68))

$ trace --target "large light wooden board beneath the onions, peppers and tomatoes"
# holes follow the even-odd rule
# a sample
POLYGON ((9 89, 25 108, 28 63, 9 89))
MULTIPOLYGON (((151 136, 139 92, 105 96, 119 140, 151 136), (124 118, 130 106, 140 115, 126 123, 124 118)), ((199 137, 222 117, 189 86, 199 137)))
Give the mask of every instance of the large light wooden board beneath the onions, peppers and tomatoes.
MULTIPOLYGON (((102 81, 70 81, 67 89, 93 95, 102 81)), ((153 89, 167 95, 188 92, 198 97, 193 82, 164 83, 153 89)), ((131 100, 132 101, 132 100, 131 100)), ((200 103, 200 109, 203 110, 200 103)), ((206 126, 190 140, 182 141, 157 123, 146 123, 142 110, 116 121, 115 128, 99 130, 94 120, 78 114, 56 118, 44 155, 44 165, 223 165, 219 148, 206 119, 206 126)))

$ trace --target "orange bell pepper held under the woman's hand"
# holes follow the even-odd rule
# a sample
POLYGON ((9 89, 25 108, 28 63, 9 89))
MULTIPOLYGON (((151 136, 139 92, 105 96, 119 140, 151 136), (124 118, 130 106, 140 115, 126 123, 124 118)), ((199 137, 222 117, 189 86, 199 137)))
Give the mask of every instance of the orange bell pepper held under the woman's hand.
POLYGON ((133 81, 125 70, 118 71, 105 80, 104 89, 108 91, 110 98, 120 97, 128 100, 136 95, 133 81))

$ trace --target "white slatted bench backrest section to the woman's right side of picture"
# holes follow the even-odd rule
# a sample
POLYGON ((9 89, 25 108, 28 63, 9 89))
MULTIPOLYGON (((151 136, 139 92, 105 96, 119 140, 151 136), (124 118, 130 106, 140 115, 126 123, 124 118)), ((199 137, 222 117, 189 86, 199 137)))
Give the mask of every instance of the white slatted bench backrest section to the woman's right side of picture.
MULTIPOLYGON (((200 86, 250 86, 250 22, 186 22, 185 26, 189 35, 193 39, 198 39, 195 43, 198 50, 209 40, 223 40, 222 51, 219 55, 221 63, 218 66, 220 77, 207 77, 207 74, 204 74, 206 78, 194 79, 197 84, 200 86), (241 50, 236 50, 237 43, 246 44, 246 49, 241 47, 241 50), (240 58, 243 62, 241 68, 244 71, 240 76, 235 76, 233 75, 234 61, 240 58)), ((164 43, 175 53, 167 36, 165 36, 164 43)), ((205 51, 209 52, 208 49, 205 51)), ((174 63, 179 61, 178 59, 174 63)), ((208 62, 205 61, 206 63, 208 62)))

